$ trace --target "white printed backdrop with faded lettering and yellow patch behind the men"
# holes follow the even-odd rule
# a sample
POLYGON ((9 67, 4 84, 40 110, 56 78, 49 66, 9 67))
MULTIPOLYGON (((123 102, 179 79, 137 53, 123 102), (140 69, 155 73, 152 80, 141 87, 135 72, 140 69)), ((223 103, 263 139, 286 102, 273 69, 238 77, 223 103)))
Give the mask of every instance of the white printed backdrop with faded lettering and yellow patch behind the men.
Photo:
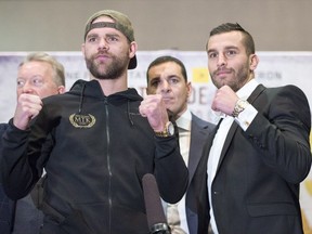
MULTIPOLYGON (((48 52, 55 56, 66 70, 67 90, 77 79, 89 79, 81 52, 48 52)), ((0 122, 6 122, 13 115, 16 104, 17 66, 27 52, 0 53, 0 122)), ((159 55, 173 55, 186 66, 188 80, 193 84, 190 108, 202 118, 217 122, 218 116, 210 109, 216 88, 207 69, 206 52, 197 51, 139 51, 138 67, 129 70, 129 87, 145 95, 146 68, 159 55)), ((296 84, 307 94, 312 108, 312 52, 258 52, 260 63, 256 69, 256 79, 266 87, 296 84)), ((312 112, 312 110, 311 110, 312 112)), ((312 136, 310 135, 312 144, 312 136)), ((312 172, 301 184, 300 203, 306 234, 312 233, 312 172)))

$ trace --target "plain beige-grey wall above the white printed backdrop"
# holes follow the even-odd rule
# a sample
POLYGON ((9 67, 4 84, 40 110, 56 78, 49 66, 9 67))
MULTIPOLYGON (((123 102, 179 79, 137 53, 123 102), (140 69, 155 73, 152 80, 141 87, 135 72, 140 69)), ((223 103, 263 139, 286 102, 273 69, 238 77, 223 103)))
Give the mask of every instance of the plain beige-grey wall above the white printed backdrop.
POLYGON ((0 51, 80 50, 102 9, 129 15, 142 51, 202 51, 225 22, 248 29, 258 51, 312 51, 311 0, 0 0, 0 51))

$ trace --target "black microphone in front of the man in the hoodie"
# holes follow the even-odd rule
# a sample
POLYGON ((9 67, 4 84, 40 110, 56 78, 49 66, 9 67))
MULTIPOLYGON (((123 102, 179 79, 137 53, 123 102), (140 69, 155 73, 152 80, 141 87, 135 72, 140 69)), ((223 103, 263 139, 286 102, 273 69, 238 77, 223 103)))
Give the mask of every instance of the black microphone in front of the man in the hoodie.
POLYGON ((151 234, 171 234, 161 206, 160 195, 154 174, 146 173, 142 179, 147 223, 151 234))

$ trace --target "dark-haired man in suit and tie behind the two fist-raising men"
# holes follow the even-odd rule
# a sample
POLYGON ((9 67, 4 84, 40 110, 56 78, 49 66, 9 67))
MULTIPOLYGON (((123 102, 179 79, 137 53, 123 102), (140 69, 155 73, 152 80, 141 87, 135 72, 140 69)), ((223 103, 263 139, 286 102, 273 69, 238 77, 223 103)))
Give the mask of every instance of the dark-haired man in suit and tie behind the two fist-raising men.
POLYGON ((164 205, 171 233, 207 233, 208 225, 200 230, 198 227, 198 212, 204 207, 200 207, 194 191, 193 176, 202 157, 203 145, 210 138, 214 126, 187 108, 192 84, 187 81, 185 66, 180 60, 172 56, 157 57, 150 64, 146 76, 147 94, 160 94, 176 119, 180 151, 188 168, 190 183, 184 197, 178 204, 164 205))

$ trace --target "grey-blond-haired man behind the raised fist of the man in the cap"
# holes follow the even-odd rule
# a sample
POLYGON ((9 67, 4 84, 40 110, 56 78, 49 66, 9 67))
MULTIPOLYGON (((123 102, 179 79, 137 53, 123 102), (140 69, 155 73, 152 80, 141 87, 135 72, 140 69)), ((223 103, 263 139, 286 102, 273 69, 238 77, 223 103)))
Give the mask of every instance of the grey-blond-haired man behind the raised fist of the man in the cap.
MULTIPOLYGON (((40 99, 65 92, 64 67, 51 55, 43 52, 30 53, 18 66, 16 95, 20 105, 16 113, 23 113, 31 105, 29 99, 40 99)), ((0 135, 8 123, 0 123, 0 135)), ((47 144, 48 145, 48 144, 47 144)), ((34 187, 34 194, 40 193, 34 187)), ((0 184, 0 233, 38 234, 43 223, 43 214, 38 210, 30 194, 18 200, 6 197, 0 184)))

